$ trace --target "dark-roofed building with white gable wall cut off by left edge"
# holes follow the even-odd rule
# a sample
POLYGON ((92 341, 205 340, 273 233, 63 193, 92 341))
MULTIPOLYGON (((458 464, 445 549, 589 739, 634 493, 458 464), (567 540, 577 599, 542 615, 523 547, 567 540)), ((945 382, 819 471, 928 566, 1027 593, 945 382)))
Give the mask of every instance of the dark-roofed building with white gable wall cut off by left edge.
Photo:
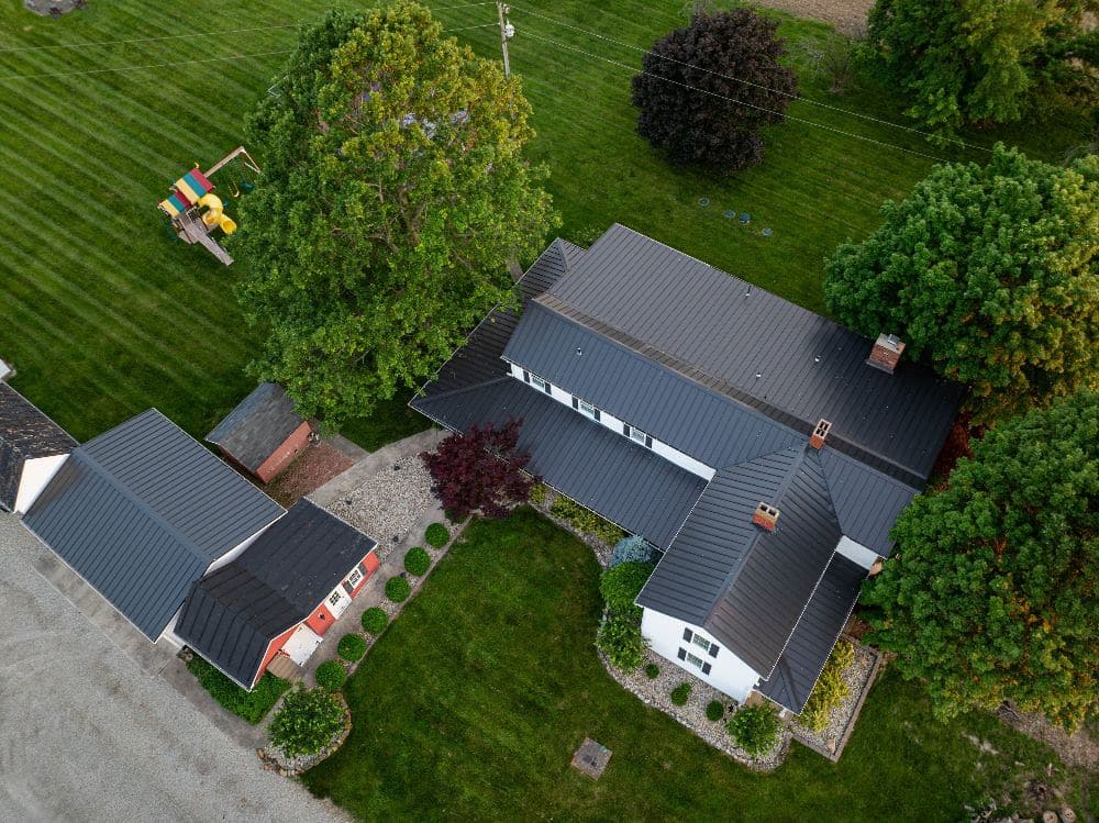
POLYGON ((0 380, 0 511, 25 512, 77 442, 0 380))

